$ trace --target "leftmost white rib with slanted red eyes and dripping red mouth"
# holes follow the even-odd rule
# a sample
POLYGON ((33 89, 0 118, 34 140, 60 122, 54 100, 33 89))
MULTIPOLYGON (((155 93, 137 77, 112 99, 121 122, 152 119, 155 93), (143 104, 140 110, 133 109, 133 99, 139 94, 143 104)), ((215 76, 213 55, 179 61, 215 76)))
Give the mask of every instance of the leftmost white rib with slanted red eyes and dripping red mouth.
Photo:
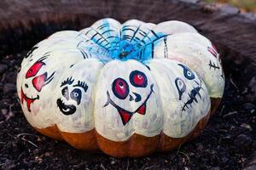
POLYGON ((60 42, 60 38, 49 37, 39 42, 21 63, 17 77, 17 91, 22 110, 33 127, 55 125, 54 89, 59 81, 56 77, 61 77, 66 68, 84 59, 84 55, 74 44, 76 41, 78 45, 81 44, 80 40, 71 38, 65 43, 65 41, 60 42), (66 52, 61 49, 65 47, 73 50, 66 52))

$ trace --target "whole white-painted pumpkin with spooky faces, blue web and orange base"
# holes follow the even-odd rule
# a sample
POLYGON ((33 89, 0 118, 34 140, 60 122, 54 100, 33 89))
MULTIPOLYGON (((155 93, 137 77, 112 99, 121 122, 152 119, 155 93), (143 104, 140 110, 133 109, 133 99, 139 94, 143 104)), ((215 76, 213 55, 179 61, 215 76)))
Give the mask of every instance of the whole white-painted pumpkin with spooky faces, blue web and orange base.
POLYGON ((224 73, 216 48, 186 23, 103 19, 36 44, 17 90, 38 132, 82 150, 146 156, 199 135, 224 73))

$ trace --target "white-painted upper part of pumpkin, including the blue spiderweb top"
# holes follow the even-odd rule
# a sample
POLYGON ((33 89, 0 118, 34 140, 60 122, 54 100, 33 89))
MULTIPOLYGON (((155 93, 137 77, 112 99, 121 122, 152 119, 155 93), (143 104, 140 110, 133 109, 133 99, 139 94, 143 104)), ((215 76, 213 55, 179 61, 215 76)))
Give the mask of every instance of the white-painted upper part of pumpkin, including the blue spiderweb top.
MULTIPOLYGON (((208 47, 213 48, 211 42, 198 34, 195 28, 180 21, 154 25, 128 20, 121 25, 116 20, 103 19, 81 31, 56 32, 35 47, 23 59, 17 77, 20 99, 21 88, 29 98, 39 96, 31 104, 31 111, 28 111, 26 101, 21 103, 26 119, 33 127, 57 124, 62 132, 67 133, 83 133, 96 127, 98 133, 113 141, 125 141, 134 133, 153 137, 163 132, 170 137, 182 138, 210 110, 209 96, 219 98, 224 90, 219 56, 208 50, 208 47), (130 44, 130 58, 116 59, 130 44), (133 59, 137 55, 143 59, 135 59, 142 62, 133 59), (26 77, 29 68, 43 56, 46 56, 44 65, 35 75, 26 77), (150 59, 151 56, 154 59, 150 59), (190 73, 196 72, 195 78, 186 79, 183 67, 172 59, 188 65, 190 73), (219 69, 210 69, 209 60, 219 69), (132 71, 143 72, 148 85, 136 87, 132 84, 132 71), (32 80, 45 72, 47 77, 54 73, 54 78, 38 92, 32 86, 32 80), (64 99, 61 91, 64 86, 60 86, 67 77, 73 77, 73 83, 80 80, 88 86, 79 105, 76 100, 64 99), (177 77, 182 80, 177 82, 179 86, 186 85, 181 99, 176 86, 177 77), (124 99, 113 93, 113 82, 117 78, 122 78, 129 87, 124 99), (193 88, 198 89, 199 84, 201 99, 199 94, 195 94, 196 101, 193 98, 193 103, 184 106, 192 101, 193 88), (75 105, 76 111, 68 116, 63 114, 57 105, 58 99, 62 99, 65 105, 75 105), (124 122, 119 111, 131 113, 131 119, 124 122)), ((66 86, 70 91, 78 88, 66 86)), ((70 109, 63 108, 65 111, 70 109)))

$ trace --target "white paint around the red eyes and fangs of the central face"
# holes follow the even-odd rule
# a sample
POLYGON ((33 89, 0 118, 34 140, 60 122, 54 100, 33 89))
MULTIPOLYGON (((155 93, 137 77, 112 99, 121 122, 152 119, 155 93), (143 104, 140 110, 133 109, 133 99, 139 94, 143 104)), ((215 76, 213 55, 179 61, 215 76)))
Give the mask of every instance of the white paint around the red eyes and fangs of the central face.
POLYGON ((95 99, 95 124, 96 131, 103 137, 113 141, 125 141, 132 134, 137 133, 143 136, 152 137, 162 130, 163 111, 161 110, 160 95, 158 94, 157 82, 151 76, 148 68, 130 59, 127 61, 113 60, 105 65, 96 82, 95 99), (141 71, 145 74, 148 84, 145 88, 135 87, 131 84, 131 71, 141 71), (113 82, 122 78, 127 83, 126 89, 129 92, 125 99, 119 99, 113 93, 113 82), (108 93, 107 93, 108 92, 108 93), (108 99, 125 111, 134 113, 131 120, 125 125, 119 115, 119 109, 112 105, 108 99), (136 101, 140 95, 140 101, 136 101), (149 97, 148 97, 149 95, 149 97), (133 98, 131 100, 131 98, 133 98), (148 100, 147 100, 148 99, 148 100), (143 104, 146 105, 144 115, 137 112, 143 104))

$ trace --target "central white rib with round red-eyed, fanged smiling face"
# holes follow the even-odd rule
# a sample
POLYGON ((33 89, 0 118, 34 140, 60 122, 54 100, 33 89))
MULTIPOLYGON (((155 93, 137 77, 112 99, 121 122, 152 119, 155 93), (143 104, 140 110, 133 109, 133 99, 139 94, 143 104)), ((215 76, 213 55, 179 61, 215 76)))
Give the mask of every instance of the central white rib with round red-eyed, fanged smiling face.
POLYGON ((113 140, 125 140, 135 132, 160 133, 157 86, 146 65, 132 59, 113 60, 103 67, 96 87, 98 133, 113 140))

